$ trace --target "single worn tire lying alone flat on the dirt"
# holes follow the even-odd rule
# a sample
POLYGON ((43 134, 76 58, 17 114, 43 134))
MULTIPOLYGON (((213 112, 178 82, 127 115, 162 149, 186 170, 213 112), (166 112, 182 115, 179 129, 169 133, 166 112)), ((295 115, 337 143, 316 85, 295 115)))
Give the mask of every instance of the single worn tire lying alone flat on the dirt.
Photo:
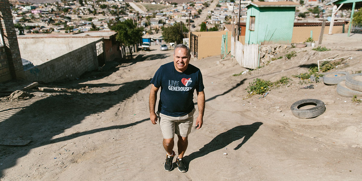
POLYGON ((315 118, 325 111, 324 102, 317 99, 303 99, 294 102, 290 106, 292 113, 298 118, 315 118), (313 108, 300 109, 303 106, 315 105, 313 108))

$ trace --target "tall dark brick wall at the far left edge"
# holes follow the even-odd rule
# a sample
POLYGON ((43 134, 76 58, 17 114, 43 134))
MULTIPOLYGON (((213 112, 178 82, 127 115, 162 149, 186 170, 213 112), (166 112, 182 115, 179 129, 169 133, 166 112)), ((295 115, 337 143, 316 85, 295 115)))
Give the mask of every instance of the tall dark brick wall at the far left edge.
POLYGON ((0 31, 4 40, 0 47, 0 82, 24 77, 9 0, 0 0, 0 31))

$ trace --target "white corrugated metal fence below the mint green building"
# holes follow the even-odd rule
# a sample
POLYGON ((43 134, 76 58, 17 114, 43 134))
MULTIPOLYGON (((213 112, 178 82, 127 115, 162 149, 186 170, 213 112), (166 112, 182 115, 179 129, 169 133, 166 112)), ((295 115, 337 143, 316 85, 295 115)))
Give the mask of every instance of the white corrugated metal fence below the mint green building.
MULTIPOLYGON (((231 37, 233 40, 234 37, 231 37)), ((241 42, 231 41, 231 55, 235 56, 241 67, 256 69, 259 67, 259 45, 243 45, 241 42)))

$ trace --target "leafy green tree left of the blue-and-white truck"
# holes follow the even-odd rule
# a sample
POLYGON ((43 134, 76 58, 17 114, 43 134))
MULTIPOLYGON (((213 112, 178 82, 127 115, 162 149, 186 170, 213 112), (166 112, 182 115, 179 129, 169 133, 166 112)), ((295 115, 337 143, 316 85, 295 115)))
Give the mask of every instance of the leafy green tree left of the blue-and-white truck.
POLYGON ((120 45, 128 47, 130 56, 132 57, 132 46, 141 41, 143 28, 139 28, 133 24, 131 19, 123 22, 119 20, 110 20, 108 27, 110 27, 111 30, 117 32, 115 36, 116 40, 120 45))

